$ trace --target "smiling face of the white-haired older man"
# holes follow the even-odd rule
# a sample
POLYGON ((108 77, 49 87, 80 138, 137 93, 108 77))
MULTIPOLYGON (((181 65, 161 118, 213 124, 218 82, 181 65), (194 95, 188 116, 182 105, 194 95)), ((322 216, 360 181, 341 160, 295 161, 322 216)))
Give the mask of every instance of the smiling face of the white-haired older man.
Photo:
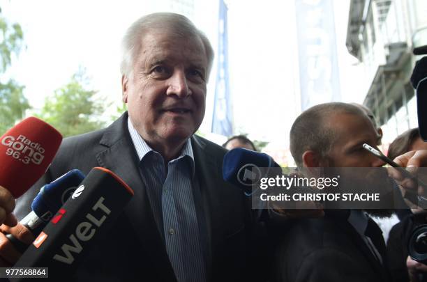
POLYGON ((204 116, 208 61, 202 40, 150 31, 123 77, 130 120, 151 146, 186 141, 204 116))

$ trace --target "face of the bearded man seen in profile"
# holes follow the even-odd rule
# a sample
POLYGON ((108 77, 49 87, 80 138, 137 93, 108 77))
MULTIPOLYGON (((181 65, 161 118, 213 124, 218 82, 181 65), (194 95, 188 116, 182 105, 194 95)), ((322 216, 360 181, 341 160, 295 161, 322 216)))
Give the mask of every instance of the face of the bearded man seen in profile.
POLYGON ((377 148, 381 138, 371 121, 367 116, 336 113, 326 123, 336 131, 336 141, 329 152, 328 163, 334 175, 340 175, 340 191, 379 193, 380 202, 366 201, 361 205, 372 215, 389 217, 393 205, 393 182, 387 170, 380 168, 385 163, 362 147, 367 143, 377 148))

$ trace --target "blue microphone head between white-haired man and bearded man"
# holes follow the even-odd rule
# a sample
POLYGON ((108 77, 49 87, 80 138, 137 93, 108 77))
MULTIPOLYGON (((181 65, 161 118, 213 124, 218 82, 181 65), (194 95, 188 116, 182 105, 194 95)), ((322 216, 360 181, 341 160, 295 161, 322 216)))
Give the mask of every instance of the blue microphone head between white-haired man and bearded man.
POLYGON ((261 178, 271 174, 281 175, 282 171, 274 159, 263 152, 235 148, 224 156, 224 180, 242 189, 246 196, 255 192, 253 187, 261 178))

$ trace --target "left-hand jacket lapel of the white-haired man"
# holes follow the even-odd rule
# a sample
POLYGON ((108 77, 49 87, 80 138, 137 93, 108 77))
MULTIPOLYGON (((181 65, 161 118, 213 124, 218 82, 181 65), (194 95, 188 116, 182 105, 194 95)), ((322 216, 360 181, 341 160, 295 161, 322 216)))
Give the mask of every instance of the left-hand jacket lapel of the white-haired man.
POLYGON ((165 244, 158 230, 147 196, 147 187, 142 181, 137 164, 137 153, 128 132, 128 113, 107 128, 100 145, 107 150, 100 152, 96 158, 100 166, 119 175, 134 191, 134 196, 126 205, 123 213, 130 223, 129 232, 135 230, 142 243, 144 254, 150 257, 158 269, 159 281, 174 281, 174 271, 166 253, 165 244), (133 230, 132 230, 133 229, 133 230))

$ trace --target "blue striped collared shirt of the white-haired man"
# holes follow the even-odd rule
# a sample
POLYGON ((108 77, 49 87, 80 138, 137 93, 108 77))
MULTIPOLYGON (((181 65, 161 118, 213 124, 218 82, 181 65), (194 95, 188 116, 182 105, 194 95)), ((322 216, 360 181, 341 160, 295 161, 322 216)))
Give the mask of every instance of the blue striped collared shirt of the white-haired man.
POLYGON ((140 159, 140 173, 154 219, 166 246, 167 255, 178 281, 206 281, 205 257, 202 251, 194 189, 193 148, 190 139, 177 159, 165 167, 160 153, 151 149, 128 118, 128 129, 140 159))

